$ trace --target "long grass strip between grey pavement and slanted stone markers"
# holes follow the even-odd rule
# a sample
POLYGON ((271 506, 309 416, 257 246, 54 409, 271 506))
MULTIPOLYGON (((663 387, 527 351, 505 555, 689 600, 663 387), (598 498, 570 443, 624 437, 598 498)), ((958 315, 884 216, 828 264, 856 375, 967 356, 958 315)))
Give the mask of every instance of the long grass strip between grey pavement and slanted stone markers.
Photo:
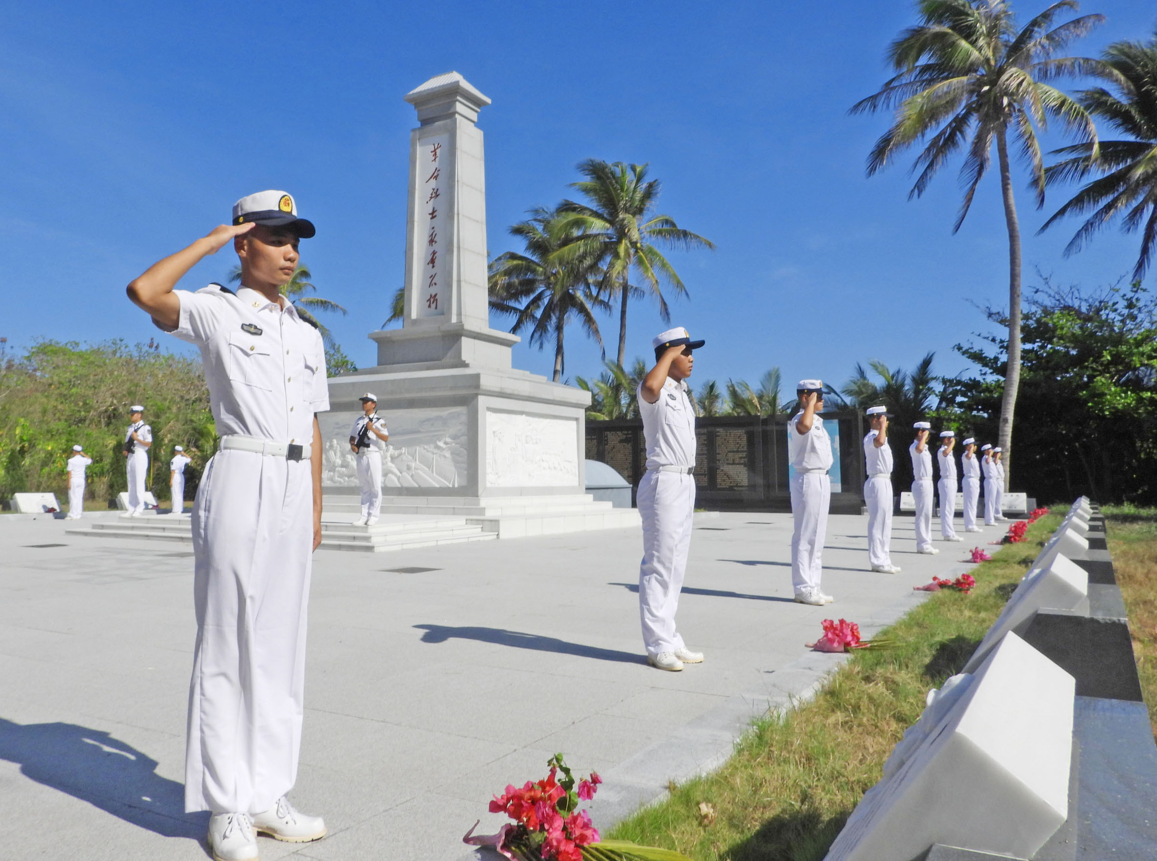
POLYGON ((977 566, 971 595, 931 594, 880 632, 893 648, 857 652, 811 702, 758 721, 723 767, 672 786, 607 837, 695 861, 819 861, 920 718, 928 689, 959 672, 1059 523, 1042 517, 1023 544, 977 566))

